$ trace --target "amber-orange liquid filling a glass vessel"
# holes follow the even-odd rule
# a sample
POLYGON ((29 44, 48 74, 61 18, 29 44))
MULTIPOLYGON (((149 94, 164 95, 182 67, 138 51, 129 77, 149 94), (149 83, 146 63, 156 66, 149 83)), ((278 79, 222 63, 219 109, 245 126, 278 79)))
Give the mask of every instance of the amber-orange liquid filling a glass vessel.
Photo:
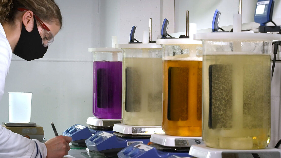
POLYGON ((192 59, 163 60, 162 128, 167 135, 202 135, 202 58, 192 59))

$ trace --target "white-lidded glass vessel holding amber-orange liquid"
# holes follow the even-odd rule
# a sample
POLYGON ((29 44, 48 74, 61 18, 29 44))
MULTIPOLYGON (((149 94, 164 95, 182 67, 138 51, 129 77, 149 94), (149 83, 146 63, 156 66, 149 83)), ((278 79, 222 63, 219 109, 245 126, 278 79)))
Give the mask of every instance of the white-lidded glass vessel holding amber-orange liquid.
POLYGON ((167 135, 202 134, 202 43, 159 39, 163 51, 163 118, 167 135))

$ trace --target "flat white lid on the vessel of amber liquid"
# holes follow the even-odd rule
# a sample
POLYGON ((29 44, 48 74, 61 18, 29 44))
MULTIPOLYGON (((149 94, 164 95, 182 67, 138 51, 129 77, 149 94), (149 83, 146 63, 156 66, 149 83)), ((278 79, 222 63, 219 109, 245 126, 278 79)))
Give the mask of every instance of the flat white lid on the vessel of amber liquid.
POLYGON ((175 44, 202 44, 201 41, 193 39, 158 39, 156 44, 175 45, 175 44))

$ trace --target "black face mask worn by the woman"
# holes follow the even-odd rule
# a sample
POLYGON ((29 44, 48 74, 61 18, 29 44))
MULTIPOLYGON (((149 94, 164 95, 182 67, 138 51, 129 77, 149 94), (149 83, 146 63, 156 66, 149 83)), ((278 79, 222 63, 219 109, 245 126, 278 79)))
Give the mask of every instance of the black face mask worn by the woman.
POLYGON ((33 17, 33 19, 34 26, 31 32, 26 31, 25 26, 22 23, 21 36, 19 37, 19 42, 13 52, 15 55, 27 61, 43 58, 48 49, 48 47, 43 46, 35 17, 33 17))

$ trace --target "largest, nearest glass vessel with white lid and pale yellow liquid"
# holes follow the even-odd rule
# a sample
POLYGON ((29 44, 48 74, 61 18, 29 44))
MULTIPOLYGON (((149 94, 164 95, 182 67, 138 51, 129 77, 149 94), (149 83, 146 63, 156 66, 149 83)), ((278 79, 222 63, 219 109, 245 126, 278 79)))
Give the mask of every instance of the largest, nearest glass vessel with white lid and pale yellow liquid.
POLYGON ((203 43, 204 143, 213 148, 259 149, 270 139, 269 33, 199 33, 203 43))

